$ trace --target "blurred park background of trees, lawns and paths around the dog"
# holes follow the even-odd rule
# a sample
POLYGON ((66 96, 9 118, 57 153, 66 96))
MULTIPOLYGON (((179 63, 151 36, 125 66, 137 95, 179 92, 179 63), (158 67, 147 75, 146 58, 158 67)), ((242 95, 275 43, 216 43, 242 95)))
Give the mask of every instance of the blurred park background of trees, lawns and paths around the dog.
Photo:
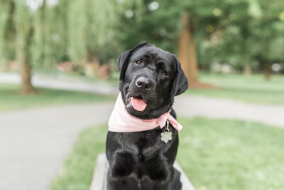
POLYGON ((178 162, 196 189, 284 189, 284 1, 0 0, 0 189, 89 189, 147 41, 190 89, 178 162))

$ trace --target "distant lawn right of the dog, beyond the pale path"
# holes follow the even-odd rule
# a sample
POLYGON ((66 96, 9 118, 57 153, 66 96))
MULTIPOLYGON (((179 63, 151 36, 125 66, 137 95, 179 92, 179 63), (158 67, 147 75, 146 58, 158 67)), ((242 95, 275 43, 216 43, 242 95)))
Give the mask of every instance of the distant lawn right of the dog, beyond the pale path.
MULTIPOLYGON (((263 75, 221 75, 200 73, 204 83, 217 85, 217 90, 187 90, 190 95, 204 95, 226 99, 241 100, 261 104, 284 104, 284 76, 273 75, 271 80, 264 80, 263 75)), ((190 83, 190 81, 189 81, 190 83)))

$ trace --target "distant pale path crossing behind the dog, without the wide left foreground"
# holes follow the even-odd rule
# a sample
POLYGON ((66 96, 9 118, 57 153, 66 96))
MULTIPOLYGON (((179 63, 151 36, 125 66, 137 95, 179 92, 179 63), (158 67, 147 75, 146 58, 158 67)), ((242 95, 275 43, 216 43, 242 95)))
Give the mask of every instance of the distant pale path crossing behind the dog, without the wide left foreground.
MULTIPOLYGON (((101 83, 60 80, 33 75, 33 85, 43 88, 74 90, 87 93, 116 95, 116 87, 101 83)), ((0 83, 21 83, 18 73, 0 73, 0 83)), ((204 116, 220 119, 237 119, 262 122, 268 125, 284 127, 284 105, 256 105, 236 100, 224 100, 197 95, 176 97, 175 107, 180 115, 186 117, 204 116)))

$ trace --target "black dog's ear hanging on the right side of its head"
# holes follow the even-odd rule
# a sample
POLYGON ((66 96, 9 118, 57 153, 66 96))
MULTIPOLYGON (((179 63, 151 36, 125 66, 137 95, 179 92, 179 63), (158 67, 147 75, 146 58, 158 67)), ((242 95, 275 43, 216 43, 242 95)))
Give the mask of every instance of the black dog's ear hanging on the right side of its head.
POLYGON ((176 95, 180 95, 181 93, 185 92, 188 88, 188 81, 187 77, 185 76, 185 73, 183 72, 180 62, 178 61, 178 58, 175 57, 175 63, 176 63, 176 74, 175 79, 173 81, 173 88, 171 92, 171 97, 174 98, 176 95))

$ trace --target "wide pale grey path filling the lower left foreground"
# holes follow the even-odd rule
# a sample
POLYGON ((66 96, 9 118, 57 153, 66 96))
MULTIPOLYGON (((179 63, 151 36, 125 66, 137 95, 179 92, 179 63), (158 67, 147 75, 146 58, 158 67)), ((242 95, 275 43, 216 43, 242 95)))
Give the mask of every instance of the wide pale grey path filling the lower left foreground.
POLYGON ((0 189, 48 189, 77 134, 107 122, 113 104, 0 113, 0 189))

